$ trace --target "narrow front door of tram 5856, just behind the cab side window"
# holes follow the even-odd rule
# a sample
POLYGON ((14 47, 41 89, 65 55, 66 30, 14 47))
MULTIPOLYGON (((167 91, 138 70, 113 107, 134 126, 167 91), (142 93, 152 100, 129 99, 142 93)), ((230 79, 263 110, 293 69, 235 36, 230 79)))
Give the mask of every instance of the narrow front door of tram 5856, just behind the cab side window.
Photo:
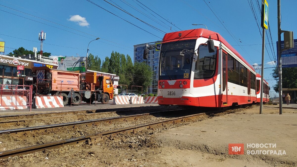
POLYGON ((227 54, 223 53, 222 55, 222 102, 223 106, 228 103, 228 70, 227 70, 227 54))

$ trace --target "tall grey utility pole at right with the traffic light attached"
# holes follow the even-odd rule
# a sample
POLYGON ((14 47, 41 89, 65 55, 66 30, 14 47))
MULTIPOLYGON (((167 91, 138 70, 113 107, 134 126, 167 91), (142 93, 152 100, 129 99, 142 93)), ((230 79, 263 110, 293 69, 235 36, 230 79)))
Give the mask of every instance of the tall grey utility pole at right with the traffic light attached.
POLYGON ((279 114, 282 114, 282 49, 280 47, 280 35, 282 34, 280 28, 280 0, 277 0, 277 35, 278 35, 278 70, 279 70, 279 114))

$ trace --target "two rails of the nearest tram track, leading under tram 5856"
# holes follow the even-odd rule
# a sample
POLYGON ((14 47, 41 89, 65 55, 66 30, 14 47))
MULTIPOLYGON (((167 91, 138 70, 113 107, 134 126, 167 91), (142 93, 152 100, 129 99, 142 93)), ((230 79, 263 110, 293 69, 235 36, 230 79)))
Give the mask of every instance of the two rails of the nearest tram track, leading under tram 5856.
MULTIPOLYGON (((241 108, 241 107, 238 107, 241 108)), ((3 151, 0 152, 0 158, 5 158, 5 157, 9 157, 9 156, 15 156, 15 155, 23 155, 23 154, 28 154, 28 153, 32 153, 32 152, 36 152, 36 151, 42 151, 44 149, 52 149, 52 148, 57 148, 63 145, 73 145, 73 144, 79 144, 79 143, 94 143, 100 139, 106 138, 106 137, 110 137, 110 135, 116 134, 116 133, 122 133, 122 132, 132 132, 132 133, 137 133, 137 130, 142 130, 142 129, 152 129, 155 127, 159 127, 159 126, 166 126, 167 124, 170 123, 178 123, 178 122, 187 122, 187 120, 189 119, 198 119, 200 117, 210 117, 210 116, 214 116, 214 114, 220 113, 220 112, 224 112, 228 109, 223 109, 223 110, 217 110, 217 111, 208 111, 208 112, 203 112, 203 113, 198 113, 198 114, 190 114, 187 115, 185 114, 186 112, 183 112, 183 110, 187 110, 187 109, 180 109, 180 110, 176 110, 176 112, 179 111, 179 113, 183 113, 183 114, 179 114, 176 116, 172 116, 173 111, 162 111, 162 112, 155 112, 154 114, 165 114, 167 112, 171 114, 172 118, 166 118, 163 120, 157 120, 157 121, 153 121, 153 122, 147 122, 147 123, 138 123, 136 125, 132 125, 132 126, 127 126, 127 127, 121 127, 121 128, 116 128, 116 129, 112 129, 112 130, 105 130, 103 132, 99 132, 99 133, 92 133, 92 134, 88 134, 88 135, 84 135, 84 136, 79 136, 79 137, 74 137, 74 138, 68 138, 68 139, 63 139, 63 140, 59 140, 59 141, 54 141, 54 142, 48 142, 48 143, 44 143, 44 144, 38 144, 38 145, 32 145, 32 146, 26 146, 26 147, 22 147, 22 148, 17 148, 17 149, 11 149, 8 151, 3 151), (181 116, 182 115, 182 116, 181 116)), ((189 111, 188 111, 189 113, 189 111)), ((103 122, 119 122, 119 120, 124 120, 124 121, 128 121, 128 119, 130 120, 135 120, 141 116, 146 116, 149 114, 153 114, 153 113, 145 113, 145 114, 135 114, 135 115, 130 115, 130 116, 120 116, 120 117, 116 117, 116 118, 106 118, 106 119, 101 119, 101 121, 103 122), (138 116, 137 116, 138 115, 138 116)), ((166 115, 166 114, 165 114, 166 115)), ((88 120, 91 121, 91 120, 88 120)), ((97 122, 99 120, 96 120, 97 122)), ((91 126, 95 126, 96 124, 94 124, 94 122, 84 122, 85 126, 87 126, 86 124, 89 123, 91 124, 91 126)), ((78 127, 79 125, 75 125, 75 123, 73 122, 71 125, 67 125, 66 126, 72 126, 72 127, 78 127)), ((83 124, 81 124, 83 125, 83 124)), ((56 126, 62 126, 62 125, 56 125, 56 126)), ((38 127, 38 128, 27 128, 26 132, 29 133, 36 133, 36 131, 40 131, 40 128, 44 128, 44 127, 38 127)), ((24 129, 23 129, 24 130, 24 129)), ((21 131, 23 131, 21 129, 15 129, 15 130, 10 130, 10 131, 1 131, 1 133, 10 133, 13 134, 15 132, 20 133, 21 131)), ((49 130, 50 131, 50 130, 49 130)), ((27 135, 29 134, 27 133, 27 135)))

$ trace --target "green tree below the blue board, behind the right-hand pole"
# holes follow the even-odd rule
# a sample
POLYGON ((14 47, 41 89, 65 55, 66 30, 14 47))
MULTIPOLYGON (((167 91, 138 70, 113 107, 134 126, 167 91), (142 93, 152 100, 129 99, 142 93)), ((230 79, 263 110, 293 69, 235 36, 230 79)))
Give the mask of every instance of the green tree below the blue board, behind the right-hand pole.
MULTIPOLYGON (((297 67, 282 68, 282 87, 283 88, 297 88, 297 67)), ((274 79, 279 78, 278 68, 273 70, 272 76, 274 79)), ((277 82, 273 89, 279 92, 279 83, 277 82)))

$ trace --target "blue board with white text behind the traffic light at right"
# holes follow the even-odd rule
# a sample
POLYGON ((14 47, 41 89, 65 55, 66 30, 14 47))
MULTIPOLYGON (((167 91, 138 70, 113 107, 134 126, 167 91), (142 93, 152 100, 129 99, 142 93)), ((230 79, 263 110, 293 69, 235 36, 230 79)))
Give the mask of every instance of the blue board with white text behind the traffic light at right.
MULTIPOLYGON (((277 42, 278 45, 278 42, 277 42)), ((281 48, 284 48, 284 41, 280 42, 281 48)), ((277 47, 278 53, 278 47, 277 47)), ((278 64, 278 59, 277 59, 278 64)), ((294 40, 294 48, 282 51, 282 68, 297 67, 297 39, 294 40)))

